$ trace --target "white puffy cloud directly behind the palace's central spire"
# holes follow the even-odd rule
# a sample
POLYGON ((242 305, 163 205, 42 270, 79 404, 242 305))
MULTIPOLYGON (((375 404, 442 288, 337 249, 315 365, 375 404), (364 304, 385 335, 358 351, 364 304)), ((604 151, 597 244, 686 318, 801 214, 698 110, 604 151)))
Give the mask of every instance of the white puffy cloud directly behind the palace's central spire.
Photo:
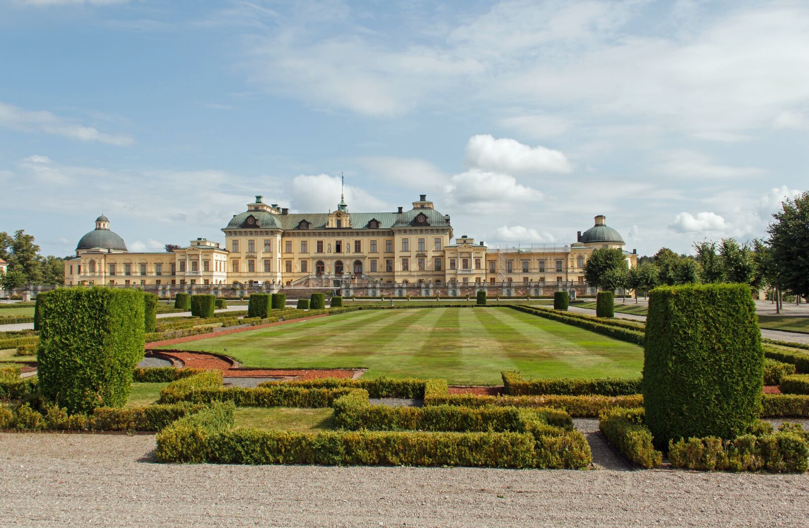
MULTIPOLYGON (((322 213, 337 209, 340 202, 340 178, 328 174, 300 174, 292 178, 291 207, 302 213, 322 213)), ((350 211, 394 211, 387 202, 363 189, 345 186, 345 203, 350 211)))

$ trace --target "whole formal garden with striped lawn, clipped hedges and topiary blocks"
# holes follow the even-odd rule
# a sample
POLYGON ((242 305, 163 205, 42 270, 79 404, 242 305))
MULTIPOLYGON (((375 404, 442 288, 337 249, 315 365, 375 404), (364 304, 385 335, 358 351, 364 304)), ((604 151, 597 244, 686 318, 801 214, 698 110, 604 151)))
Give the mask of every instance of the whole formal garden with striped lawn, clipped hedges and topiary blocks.
POLYGON ((809 347, 762 343, 749 287, 655 288, 646 322, 611 292, 569 307, 60 288, 0 338, 0 429, 155 432, 160 462, 582 470, 598 419, 635 468, 807 471, 809 347))

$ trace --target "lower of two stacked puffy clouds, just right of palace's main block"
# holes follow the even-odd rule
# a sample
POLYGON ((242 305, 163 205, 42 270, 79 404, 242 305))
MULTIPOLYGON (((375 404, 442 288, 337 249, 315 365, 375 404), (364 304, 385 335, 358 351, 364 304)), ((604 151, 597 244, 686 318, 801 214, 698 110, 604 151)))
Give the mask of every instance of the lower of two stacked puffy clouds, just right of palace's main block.
POLYGON ((455 174, 444 187, 447 202, 454 204, 537 202, 542 193, 531 187, 520 185, 509 174, 488 172, 472 168, 455 174))

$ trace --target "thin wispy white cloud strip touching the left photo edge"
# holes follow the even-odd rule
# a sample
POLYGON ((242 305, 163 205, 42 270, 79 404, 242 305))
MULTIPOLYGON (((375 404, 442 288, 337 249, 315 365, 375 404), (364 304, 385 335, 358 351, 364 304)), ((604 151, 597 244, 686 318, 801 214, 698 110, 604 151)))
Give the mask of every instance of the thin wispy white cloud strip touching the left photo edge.
POLYGON ((20 132, 42 132, 85 142, 97 141, 119 147, 134 143, 134 139, 126 135, 106 134, 92 126, 71 123, 63 117, 58 117, 44 110, 32 112, 5 103, 0 103, 0 126, 11 130, 19 130, 20 132))

